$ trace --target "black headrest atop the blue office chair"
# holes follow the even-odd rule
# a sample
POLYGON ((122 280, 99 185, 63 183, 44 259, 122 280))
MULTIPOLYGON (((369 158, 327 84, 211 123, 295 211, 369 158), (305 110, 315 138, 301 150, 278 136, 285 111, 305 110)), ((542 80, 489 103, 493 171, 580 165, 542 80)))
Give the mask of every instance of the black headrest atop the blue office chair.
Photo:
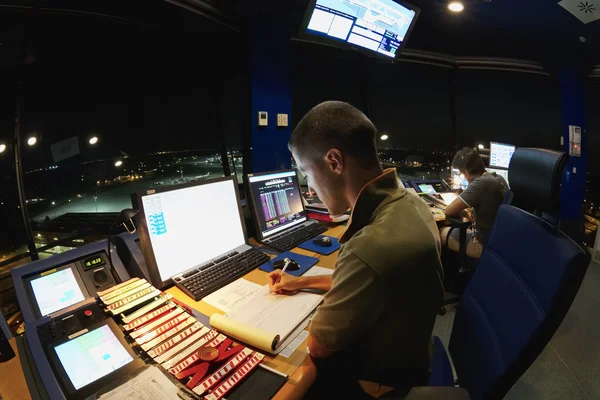
POLYGON ((515 204, 548 213, 558 212, 562 174, 568 158, 560 151, 515 150, 508 169, 515 204))

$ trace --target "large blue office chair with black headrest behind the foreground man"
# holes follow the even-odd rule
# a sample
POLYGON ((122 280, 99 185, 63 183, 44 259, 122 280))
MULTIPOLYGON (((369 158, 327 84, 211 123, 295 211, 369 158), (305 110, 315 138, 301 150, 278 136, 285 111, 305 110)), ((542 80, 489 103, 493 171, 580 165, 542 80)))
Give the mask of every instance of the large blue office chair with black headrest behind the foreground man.
MULTIPOLYGON (((501 399, 533 364, 577 294, 589 254, 541 218, 556 215, 565 153, 517 149, 510 165, 513 204, 502 205, 483 256, 456 311, 450 354, 472 399, 501 399)), ((431 386, 454 386, 435 339, 431 386)))

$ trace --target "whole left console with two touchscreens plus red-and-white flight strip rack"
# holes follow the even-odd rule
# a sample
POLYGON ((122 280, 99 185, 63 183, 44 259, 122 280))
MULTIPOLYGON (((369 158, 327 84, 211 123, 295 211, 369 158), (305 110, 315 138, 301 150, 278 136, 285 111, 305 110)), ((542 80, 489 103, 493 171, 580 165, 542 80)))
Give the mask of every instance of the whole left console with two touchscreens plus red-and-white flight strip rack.
MULTIPOLYGON (((128 269, 143 275, 136 236, 121 239, 128 269)), ((89 244, 12 271, 25 320, 17 347, 34 400, 268 399, 285 383, 287 375, 261 365, 264 354, 130 276, 114 250, 111 266, 106 246, 89 244)))

